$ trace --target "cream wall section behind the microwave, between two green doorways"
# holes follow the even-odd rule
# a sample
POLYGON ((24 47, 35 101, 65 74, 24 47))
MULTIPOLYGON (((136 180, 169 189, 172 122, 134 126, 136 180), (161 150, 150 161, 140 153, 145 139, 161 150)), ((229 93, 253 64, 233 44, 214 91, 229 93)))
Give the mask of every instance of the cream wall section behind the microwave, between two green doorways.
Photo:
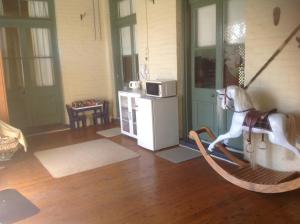
POLYGON ((148 79, 177 80, 179 129, 182 134, 181 0, 136 1, 137 46, 140 68, 147 64, 148 79), (148 61, 146 60, 148 58, 148 61))

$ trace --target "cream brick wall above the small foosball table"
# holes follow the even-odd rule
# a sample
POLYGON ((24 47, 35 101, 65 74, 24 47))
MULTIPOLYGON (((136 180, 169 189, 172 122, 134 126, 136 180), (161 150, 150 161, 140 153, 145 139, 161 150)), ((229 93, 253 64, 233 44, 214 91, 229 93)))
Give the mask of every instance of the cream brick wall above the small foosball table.
POLYGON ((97 38, 92 1, 56 0, 55 10, 65 103, 93 97, 112 102, 114 81, 108 0, 100 1, 101 32, 97 21, 97 38), (86 16, 81 21, 82 13, 86 16))

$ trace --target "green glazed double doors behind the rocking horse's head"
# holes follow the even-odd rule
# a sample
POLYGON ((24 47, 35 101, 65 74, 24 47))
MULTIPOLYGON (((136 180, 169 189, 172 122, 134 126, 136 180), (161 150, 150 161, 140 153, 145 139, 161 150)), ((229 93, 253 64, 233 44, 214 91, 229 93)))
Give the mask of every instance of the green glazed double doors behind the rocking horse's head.
MULTIPOLYGON (((207 126, 219 135, 230 128, 232 112, 220 109, 216 89, 244 83, 245 0, 190 0, 189 6, 191 128, 207 126)), ((242 138, 229 146, 242 149, 242 138)))

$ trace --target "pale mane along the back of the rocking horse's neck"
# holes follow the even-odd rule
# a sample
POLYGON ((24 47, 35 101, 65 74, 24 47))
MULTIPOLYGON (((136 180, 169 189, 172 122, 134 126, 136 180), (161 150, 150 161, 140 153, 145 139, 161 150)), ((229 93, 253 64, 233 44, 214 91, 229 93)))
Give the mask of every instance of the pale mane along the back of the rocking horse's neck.
POLYGON ((238 86, 231 86, 234 89, 234 107, 238 111, 253 108, 253 103, 245 89, 238 86))

